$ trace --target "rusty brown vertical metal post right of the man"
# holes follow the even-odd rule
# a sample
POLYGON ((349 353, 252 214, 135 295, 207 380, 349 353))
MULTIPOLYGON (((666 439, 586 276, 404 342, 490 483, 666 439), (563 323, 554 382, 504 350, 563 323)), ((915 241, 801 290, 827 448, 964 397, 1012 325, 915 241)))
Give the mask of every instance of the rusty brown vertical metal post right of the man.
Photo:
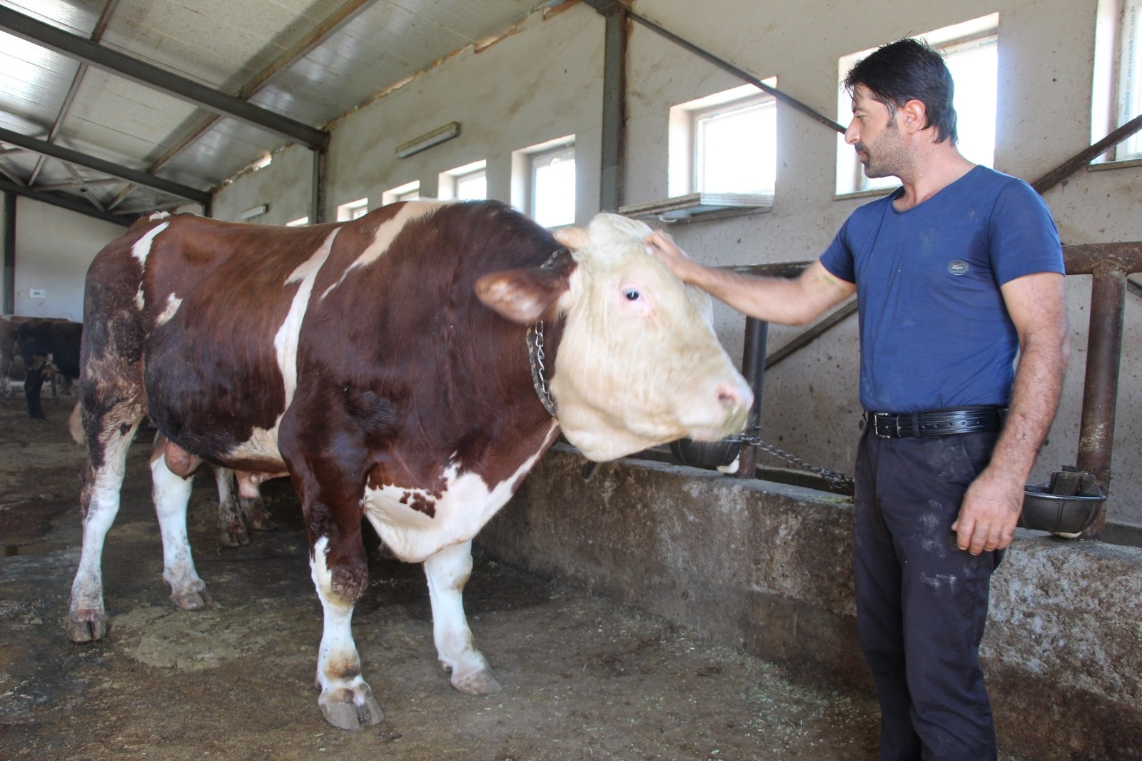
MULTIPOLYGON (((1110 456, 1115 440, 1115 400, 1118 396, 1125 304, 1126 273, 1113 262, 1096 265, 1091 285, 1089 343, 1077 465, 1094 475, 1107 495, 1110 494, 1110 456)), ((1103 508, 1080 538, 1097 539, 1105 523, 1103 508)))

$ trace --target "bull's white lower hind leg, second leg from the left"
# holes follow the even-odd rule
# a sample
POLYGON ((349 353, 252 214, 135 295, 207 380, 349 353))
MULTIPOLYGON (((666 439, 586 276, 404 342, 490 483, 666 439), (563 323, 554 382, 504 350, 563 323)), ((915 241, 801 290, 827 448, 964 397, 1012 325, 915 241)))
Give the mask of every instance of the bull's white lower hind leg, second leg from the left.
POLYGON ((210 595, 194 569, 186 536, 186 504, 191 499, 194 465, 183 463, 179 471, 185 475, 172 472, 168 462, 172 452, 186 458, 186 452, 160 436, 151 456, 154 512, 162 532, 162 578, 170 584, 170 599, 177 607, 196 610, 210 603, 210 595))

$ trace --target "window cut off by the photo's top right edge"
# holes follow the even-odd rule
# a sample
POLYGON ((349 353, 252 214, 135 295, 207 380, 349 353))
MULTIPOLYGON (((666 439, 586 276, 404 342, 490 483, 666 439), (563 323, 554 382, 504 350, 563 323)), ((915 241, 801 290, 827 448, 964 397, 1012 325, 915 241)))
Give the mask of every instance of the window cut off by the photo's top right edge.
MULTIPOLYGON (((1142 114, 1142 0, 1100 0, 1093 94, 1092 143, 1142 114)), ((1103 157, 1131 159, 1142 159, 1140 133, 1103 157)))

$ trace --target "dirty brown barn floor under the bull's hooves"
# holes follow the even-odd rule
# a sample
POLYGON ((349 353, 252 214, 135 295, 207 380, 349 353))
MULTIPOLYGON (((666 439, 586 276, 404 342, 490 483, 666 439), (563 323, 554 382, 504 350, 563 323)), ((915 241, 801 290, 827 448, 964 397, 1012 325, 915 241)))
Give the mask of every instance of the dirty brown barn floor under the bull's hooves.
POLYGON ((478 552, 465 603, 505 690, 450 687, 420 568, 375 553, 353 628, 385 720, 335 729, 316 704, 321 607, 288 481, 264 488, 278 529, 231 548, 218 540, 214 479, 199 474, 188 529, 214 604, 177 610, 142 435, 104 554, 111 632, 73 644, 63 619, 85 455, 66 432, 71 403, 47 394, 38 422, 18 390, 0 399, 0 759, 875 756, 868 697, 804 689, 770 664, 478 552))

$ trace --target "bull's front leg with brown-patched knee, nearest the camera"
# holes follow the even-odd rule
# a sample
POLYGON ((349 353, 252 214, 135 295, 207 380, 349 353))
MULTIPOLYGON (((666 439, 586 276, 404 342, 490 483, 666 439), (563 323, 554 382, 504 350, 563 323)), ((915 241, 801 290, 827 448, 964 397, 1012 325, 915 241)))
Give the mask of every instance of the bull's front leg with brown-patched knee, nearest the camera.
POLYGON ((368 584, 368 561, 360 530, 355 547, 352 538, 333 534, 340 536, 338 546, 331 545, 329 536, 321 536, 309 558, 313 585, 317 588, 324 619, 317 651, 316 684, 321 689, 317 704, 325 721, 332 726, 357 729, 385 718, 361 674, 361 656, 353 641, 353 607, 368 584))

